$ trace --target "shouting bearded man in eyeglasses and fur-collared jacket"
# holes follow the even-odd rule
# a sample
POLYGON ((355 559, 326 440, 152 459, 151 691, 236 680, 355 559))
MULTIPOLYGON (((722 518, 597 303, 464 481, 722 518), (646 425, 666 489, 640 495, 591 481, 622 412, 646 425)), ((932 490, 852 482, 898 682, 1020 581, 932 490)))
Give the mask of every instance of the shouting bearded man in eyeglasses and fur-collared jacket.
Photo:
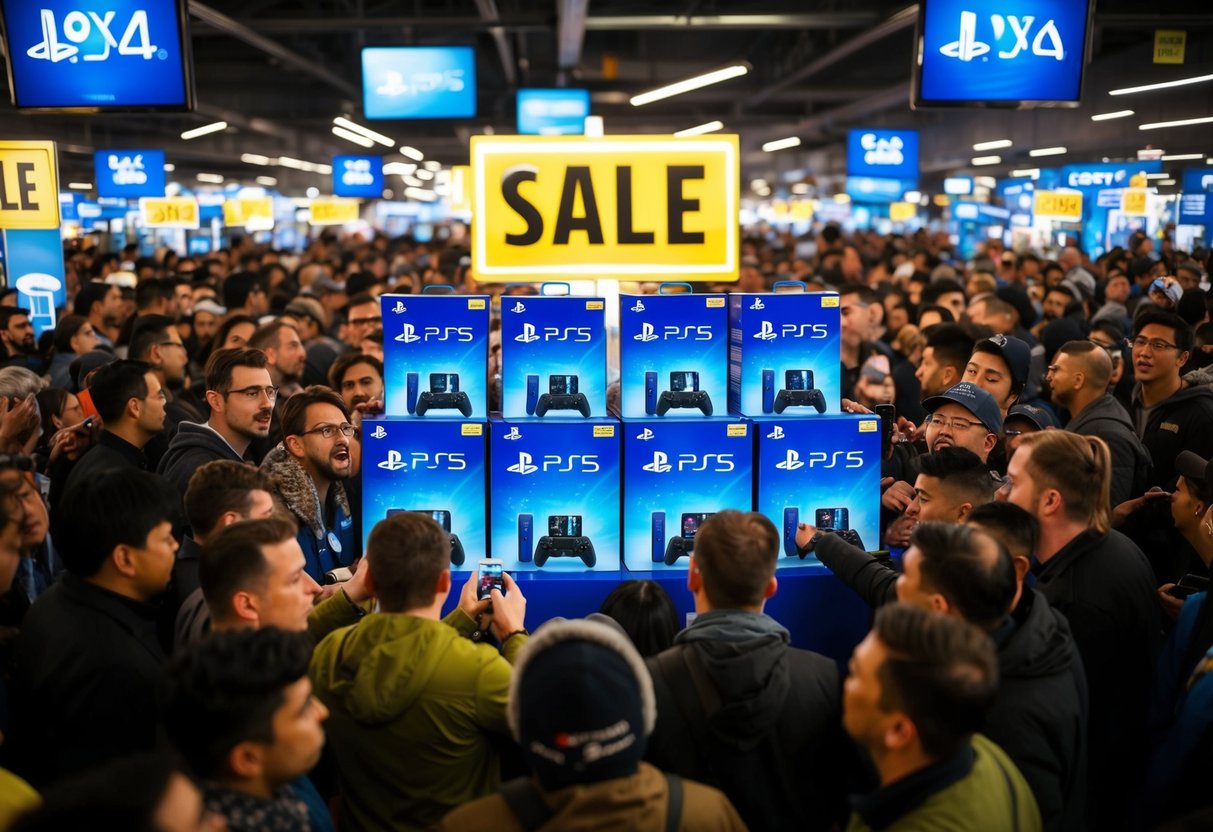
POLYGON ((283 441, 262 462, 275 492, 300 524, 308 575, 324 575, 358 559, 359 540, 343 480, 354 473, 358 428, 340 395, 315 384, 283 406, 283 441))

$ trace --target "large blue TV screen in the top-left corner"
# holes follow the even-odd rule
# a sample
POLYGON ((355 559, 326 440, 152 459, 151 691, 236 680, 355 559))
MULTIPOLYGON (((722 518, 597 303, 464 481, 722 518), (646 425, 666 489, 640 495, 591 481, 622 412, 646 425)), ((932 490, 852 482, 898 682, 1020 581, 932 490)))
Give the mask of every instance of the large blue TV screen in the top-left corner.
POLYGON ((188 110, 186 0, 0 0, 18 109, 188 110))

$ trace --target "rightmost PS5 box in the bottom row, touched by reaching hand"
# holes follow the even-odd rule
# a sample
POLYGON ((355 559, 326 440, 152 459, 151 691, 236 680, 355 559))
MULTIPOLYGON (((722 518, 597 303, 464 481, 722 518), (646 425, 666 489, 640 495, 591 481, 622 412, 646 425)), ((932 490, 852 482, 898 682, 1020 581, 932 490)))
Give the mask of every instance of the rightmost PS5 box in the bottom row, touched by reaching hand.
POLYGON ((820 418, 756 418, 757 509, 782 541, 779 568, 822 568, 796 551, 796 529, 850 530, 860 548, 879 548, 881 420, 826 415, 820 418))

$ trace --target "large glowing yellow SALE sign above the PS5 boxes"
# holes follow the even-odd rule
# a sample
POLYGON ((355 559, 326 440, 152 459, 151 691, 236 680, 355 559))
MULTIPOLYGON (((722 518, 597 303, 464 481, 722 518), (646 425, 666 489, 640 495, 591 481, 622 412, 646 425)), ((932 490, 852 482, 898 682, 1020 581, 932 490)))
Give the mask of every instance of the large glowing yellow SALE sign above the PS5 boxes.
POLYGON ((738 279, 736 136, 473 136, 472 181, 477 280, 738 279))

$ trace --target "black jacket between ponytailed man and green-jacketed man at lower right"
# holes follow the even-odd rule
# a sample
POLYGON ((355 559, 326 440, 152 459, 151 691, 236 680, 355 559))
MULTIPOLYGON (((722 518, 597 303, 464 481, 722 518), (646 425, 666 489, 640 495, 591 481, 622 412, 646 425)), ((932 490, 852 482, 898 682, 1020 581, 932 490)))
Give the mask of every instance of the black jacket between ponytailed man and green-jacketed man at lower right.
POLYGON ((983 734, 1031 786, 1046 830, 1086 828, 1087 677, 1065 616, 1024 588, 998 645, 998 697, 983 734))

